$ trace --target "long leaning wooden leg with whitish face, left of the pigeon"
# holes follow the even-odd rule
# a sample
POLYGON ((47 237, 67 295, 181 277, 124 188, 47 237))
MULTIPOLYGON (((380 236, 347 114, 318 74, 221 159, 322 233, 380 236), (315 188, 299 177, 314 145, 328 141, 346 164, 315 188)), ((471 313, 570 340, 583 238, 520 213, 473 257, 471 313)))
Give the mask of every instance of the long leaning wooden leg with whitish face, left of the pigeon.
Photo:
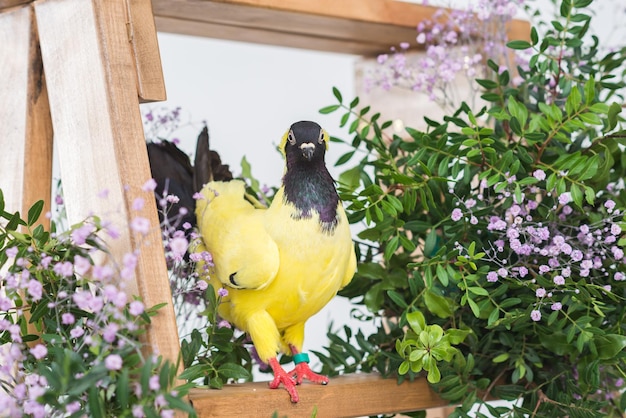
POLYGON ((35 12, 70 223, 91 213, 112 222, 106 235, 115 262, 140 249, 135 280, 126 283, 147 306, 165 303, 152 318, 146 350, 176 363, 178 331, 137 97, 137 75, 120 0, 38 0, 35 12), (102 192, 107 191, 104 198, 102 192), (143 198, 143 209, 133 201, 143 198), (135 217, 152 228, 130 228, 135 217))

